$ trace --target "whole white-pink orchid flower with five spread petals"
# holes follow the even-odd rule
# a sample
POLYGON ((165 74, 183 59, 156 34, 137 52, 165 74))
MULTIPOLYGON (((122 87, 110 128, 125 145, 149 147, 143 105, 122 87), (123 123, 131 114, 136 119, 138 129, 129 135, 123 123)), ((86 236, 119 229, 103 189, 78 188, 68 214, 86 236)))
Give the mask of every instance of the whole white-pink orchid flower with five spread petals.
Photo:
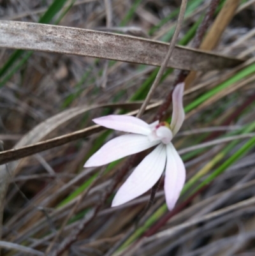
POLYGON ((157 183, 164 169, 166 204, 169 210, 175 206, 186 179, 184 163, 171 143, 184 122, 183 93, 184 83, 178 84, 172 96, 173 116, 170 125, 159 121, 147 124, 133 116, 110 115, 93 119, 96 124, 128 134, 107 142, 87 160, 84 167, 105 165, 157 145, 120 186, 112 206, 119 206, 147 192, 157 183))

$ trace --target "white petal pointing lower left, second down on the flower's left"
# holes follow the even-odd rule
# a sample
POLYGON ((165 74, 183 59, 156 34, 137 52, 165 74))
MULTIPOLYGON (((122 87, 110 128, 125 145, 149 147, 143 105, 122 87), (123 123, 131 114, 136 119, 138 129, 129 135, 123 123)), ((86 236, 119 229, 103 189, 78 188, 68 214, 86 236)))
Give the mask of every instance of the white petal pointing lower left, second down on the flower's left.
POLYGON ((94 153, 84 167, 96 167, 113 162, 129 154, 141 152, 159 144, 159 140, 150 142, 147 136, 126 134, 108 141, 94 153))

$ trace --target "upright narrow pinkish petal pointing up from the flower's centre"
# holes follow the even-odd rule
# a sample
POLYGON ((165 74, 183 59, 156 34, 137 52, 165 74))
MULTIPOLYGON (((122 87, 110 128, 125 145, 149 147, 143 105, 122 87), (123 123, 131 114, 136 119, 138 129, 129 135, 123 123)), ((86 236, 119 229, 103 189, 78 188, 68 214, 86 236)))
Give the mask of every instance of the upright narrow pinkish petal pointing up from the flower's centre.
POLYGON ((184 83, 177 84, 173 90, 173 115, 170 124, 173 136, 180 130, 185 119, 184 108, 182 105, 183 93, 184 83))

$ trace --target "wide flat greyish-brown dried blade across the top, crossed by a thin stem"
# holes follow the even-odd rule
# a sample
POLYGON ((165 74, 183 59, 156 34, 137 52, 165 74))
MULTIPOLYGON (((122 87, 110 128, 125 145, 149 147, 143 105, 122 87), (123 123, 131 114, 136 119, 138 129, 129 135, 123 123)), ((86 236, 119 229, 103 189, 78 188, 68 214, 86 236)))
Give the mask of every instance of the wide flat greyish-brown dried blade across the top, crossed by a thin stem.
MULTIPOLYGON (((160 66, 168 51, 168 44, 159 41, 29 22, 3 20, 0 22, 0 34, 3 35, 0 47, 75 54, 152 66, 160 66)), ((208 71, 232 68, 241 63, 242 59, 175 47, 168 67, 208 71)))

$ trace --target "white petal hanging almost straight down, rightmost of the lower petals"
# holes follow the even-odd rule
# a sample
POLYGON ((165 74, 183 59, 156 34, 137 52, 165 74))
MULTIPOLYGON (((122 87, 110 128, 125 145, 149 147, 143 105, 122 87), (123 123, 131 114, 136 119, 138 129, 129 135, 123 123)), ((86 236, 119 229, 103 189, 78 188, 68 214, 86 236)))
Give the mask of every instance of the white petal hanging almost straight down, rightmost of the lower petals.
POLYGON ((180 158, 173 144, 166 146, 166 176, 164 178, 164 193, 166 205, 171 211, 184 186, 186 179, 186 169, 182 158, 180 158))

